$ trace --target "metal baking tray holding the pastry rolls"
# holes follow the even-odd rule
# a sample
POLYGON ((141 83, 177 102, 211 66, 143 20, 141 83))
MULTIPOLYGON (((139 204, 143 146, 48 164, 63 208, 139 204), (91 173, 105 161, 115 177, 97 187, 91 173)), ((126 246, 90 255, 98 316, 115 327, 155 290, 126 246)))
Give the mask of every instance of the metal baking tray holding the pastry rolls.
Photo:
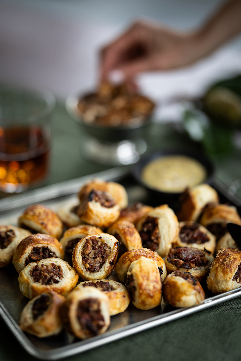
MULTIPOLYGON (((30 204, 41 202, 57 210, 66 202, 77 201, 76 192, 79 187, 87 179, 93 177, 120 181, 126 186, 130 202, 146 201, 148 204, 148 194, 144 188, 138 186, 133 180, 123 181, 123 178, 126 178, 128 173, 129 167, 116 167, 3 199, 0 203, 2 214, 0 223, 17 225, 17 218, 23 209, 30 204)), ((229 201, 232 201, 230 197, 228 198, 229 201)), ((225 199, 227 200, 227 197, 224 195, 225 199)), ((235 201, 232 203, 238 205, 235 201)), ((18 275, 13 265, 1 269, 1 316, 27 352, 32 356, 45 360, 59 360, 60 358, 72 356, 241 296, 241 288, 220 295, 213 295, 204 286, 206 299, 196 306, 176 309, 165 304, 162 300, 160 306, 143 311, 130 304, 125 312, 111 317, 111 325, 108 331, 102 335, 87 340, 79 340, 63 330, 57 336, 39 339, 24 333, 18 326, 19 315, 29 300, 22 295, 17 278, 18 275)), ((112 273, 110 278, 115 279, 115 273, 112 273)))

